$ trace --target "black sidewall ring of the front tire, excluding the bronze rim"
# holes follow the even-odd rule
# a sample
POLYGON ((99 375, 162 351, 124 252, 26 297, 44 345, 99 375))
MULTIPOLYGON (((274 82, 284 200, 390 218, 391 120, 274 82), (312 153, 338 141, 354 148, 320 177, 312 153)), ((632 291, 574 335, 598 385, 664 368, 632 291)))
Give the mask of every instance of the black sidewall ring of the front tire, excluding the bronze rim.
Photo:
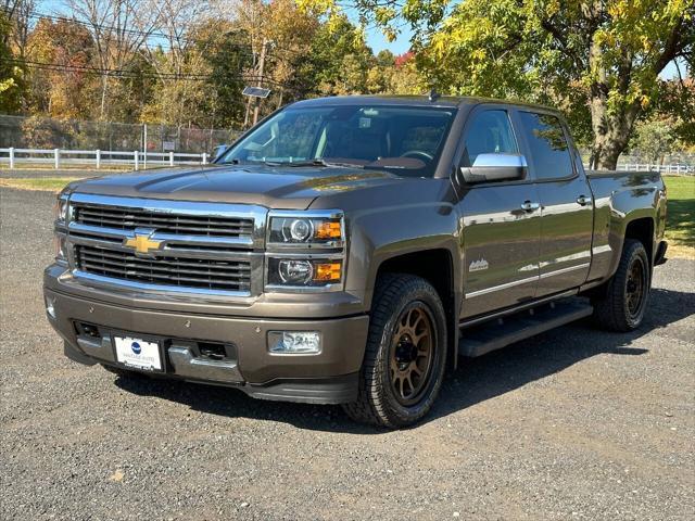
POLYGON ((422 418, 431 408, 437 399, 439 390, 444 378, 444 369, 446 363, 446 320, 444 308, 441 301, 437 296, 437 292, 427 283, 418 283, 412 291, 404 292, 397 304, 393 307, 391 316, 386 323, 379 346, 380 365, 379 374, 381 389, 383 390, 384 402, 388 406, 392 421, 399 425, 405 425, 422 418), (410 406, 401 404, 395 397, 390 382, 390 354, 391 343, 394 331, 397 327, 397 320, 401 313, 413 302, 425 304, 432 318, 432 328, 434 330, 434 356, 432 359, 432 372, 426 390, 422 392, 421 399, 410 406))

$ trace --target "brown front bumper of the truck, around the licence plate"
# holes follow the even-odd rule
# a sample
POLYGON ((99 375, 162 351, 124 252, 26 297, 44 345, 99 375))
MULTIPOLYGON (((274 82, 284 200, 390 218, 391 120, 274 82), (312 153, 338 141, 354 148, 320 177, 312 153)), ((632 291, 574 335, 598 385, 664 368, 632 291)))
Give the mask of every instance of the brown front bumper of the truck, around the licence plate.
POLYGON ((61 291, 59 271, 46 271, 43 292, 54 308, 55 318, 49 315, 49 321, 64 339, 71 359, 118 367, 112 338, 126 332, 161 343, 164 372, 157 374, 167 378, 230 385, 266 399, 337 404, 356 397, 367 315, 291 319, 141 309, 61 291), (79 326, 85 323, 98 334, 86 335, 79 326), (319 331, 321 352, 270 354, 269 331, 319 331), (198 343, 231 346, 229 356, 201 356, 198 343))

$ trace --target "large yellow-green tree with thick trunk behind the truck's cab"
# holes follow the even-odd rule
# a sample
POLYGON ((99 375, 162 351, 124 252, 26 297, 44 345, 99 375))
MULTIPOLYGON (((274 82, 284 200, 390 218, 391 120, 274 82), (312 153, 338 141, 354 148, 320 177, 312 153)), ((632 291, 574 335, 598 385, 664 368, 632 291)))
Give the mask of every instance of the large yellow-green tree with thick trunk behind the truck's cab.
POLYGON ((616 167, 659 98, 659 73, 674 60, 692 71, 693 0, 466 0, 450 13, 445 0, 355 4, 389 35, 399 18, 409 23, 418 66, 442 91, 586 111, 596 168, 616 167))

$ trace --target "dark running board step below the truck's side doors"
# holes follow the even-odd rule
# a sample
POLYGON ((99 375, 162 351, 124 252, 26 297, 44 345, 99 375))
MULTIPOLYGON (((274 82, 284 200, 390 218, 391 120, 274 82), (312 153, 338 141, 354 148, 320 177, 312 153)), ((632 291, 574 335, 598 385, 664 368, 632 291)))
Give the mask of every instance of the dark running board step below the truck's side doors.
POLYGON ((594 308, 584 298, 568 298, 462 329, 458 354, 481 356, 520 340, 590 316, 594 308))

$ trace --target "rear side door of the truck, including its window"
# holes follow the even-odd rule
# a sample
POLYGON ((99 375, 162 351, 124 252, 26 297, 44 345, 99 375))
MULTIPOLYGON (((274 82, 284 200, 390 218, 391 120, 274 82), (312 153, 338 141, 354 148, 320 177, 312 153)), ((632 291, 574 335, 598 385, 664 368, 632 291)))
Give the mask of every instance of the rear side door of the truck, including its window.
POLYGON ((560 119, 519 110, 517 126, 541 202, 536 296, 581 285, 591 265, 593 200, 560 119))

